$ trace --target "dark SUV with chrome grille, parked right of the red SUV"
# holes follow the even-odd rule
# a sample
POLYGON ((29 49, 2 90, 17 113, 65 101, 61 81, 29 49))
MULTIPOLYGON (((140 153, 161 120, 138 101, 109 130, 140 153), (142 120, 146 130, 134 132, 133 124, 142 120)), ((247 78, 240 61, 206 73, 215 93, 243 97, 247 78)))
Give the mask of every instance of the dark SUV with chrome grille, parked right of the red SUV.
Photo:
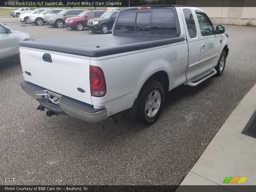
POLYGON ((87 28, 93 32, 108 34, 108 31, 113 28, 118 10, 107 11, 100 18, 90 19, 87 23, 87 28))

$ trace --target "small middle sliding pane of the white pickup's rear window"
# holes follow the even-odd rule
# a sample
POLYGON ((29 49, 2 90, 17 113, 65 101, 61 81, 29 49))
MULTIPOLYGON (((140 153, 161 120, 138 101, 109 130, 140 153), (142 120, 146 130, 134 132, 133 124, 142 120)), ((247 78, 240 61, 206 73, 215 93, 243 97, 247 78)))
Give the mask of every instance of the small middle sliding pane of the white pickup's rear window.
POLYGON ((135 34, 150 34, 151 12, 137 13, 135 34))

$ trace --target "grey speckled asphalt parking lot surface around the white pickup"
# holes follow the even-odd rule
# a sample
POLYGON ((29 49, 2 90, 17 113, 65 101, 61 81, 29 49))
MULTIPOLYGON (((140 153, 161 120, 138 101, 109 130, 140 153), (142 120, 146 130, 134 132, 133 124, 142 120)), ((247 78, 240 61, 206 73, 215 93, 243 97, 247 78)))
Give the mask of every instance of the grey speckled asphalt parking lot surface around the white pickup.
MULTIPOLYGON (((87 29, 4 24, 34 39, 99 35, 87 29)), ((179 185, 256 83, 256 27, 226 25, 226 33, 230 51, 223 75, 197 87, 182 85, 168 92, 162 115, 148 127, 109 120, 89 124, 69 116, 49 118, 21 90, 19 63, 1 63, 0 184, 15 177, 62 180, 37 183, 44 185, 179 185)))

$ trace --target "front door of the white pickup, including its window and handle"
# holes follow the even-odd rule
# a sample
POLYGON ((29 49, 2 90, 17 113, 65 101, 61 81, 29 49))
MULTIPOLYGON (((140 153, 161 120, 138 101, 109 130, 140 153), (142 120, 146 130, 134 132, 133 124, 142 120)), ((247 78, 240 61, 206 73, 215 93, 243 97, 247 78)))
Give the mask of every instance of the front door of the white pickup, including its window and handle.
POLYGON ((198 75, 216 66, 219 59, 220 39, 215 35, 215 29, 209 17, 196 10, 197 24, 200 28, 200 63, 198 75))

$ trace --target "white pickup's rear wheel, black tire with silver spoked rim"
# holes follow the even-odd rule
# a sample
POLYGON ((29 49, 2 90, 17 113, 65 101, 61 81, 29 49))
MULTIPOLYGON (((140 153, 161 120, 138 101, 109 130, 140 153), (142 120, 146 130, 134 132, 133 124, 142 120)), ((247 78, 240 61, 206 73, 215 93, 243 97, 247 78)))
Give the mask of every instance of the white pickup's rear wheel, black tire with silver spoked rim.
POLYGON ((143 86, 139 94, 138 120, 144 125, 154 124, 161 113, 163 103, 164 87, 160 82, 153 81, 143 86), (157 97, 159 94, 160 100, 157 97), (155 99, 154 96, 157 98, 155 99), (158 109, 154 108, 154 104, 157 103, 160 104, 158 109), (149 111, 152 112, 152 117, 150 117, 149 111))

